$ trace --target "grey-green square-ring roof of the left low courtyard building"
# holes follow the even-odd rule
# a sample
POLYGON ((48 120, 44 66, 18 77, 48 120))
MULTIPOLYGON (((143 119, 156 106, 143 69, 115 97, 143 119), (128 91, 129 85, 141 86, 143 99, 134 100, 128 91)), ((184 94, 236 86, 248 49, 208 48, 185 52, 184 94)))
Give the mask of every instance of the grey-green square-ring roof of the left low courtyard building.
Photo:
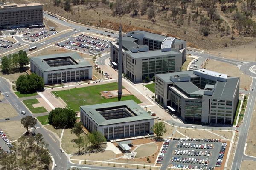
POLYGON ((37 56, 37 57, 30 57, 30 59, 38 65, 43 71, 55 71, 55 70, 64 70, 64 69, 71 69, 71 68, 82 68, 82 67, 92 67, 90 63, 79 56, 77 53, 61 53, 61 54, 52 54, 52 55, 44 55, 44 56, 37 56), (70 57, 76 63, 73 65, 64 65, 58 67, 51 67, 47 64, 45 59, 58 59, 61 57, 70 57))

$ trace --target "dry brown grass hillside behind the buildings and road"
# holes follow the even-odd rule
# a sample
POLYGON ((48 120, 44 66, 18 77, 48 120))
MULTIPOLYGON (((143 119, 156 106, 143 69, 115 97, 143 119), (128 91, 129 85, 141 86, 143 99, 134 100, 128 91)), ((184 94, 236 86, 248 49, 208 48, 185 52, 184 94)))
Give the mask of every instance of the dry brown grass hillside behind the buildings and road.
MULTIPOLYGON (((64 5, 61 3, 59 7, 54 6, 53 0, 11 0, 13 3, 33 3, 39 2, 44 4, 44 10, 59 14, 63 17, 67 17, 71 20, 81 22, 84 24, 89 24, 93 26, 100 26, 103 28, 110 28, 113 30, 118 30, 119 23, 123 24, 123 31, 131 31, 136 29, 142 29, 145 31, 152 31, 159 34, 165 34, 173 37, 178 37, 184 39, 188 42, 189 46, 195 48, 203 49, 215 49, 221 48, 225 45, 241 45, 247 42, 251 42, 253 38, 251 37, 241 37, 237 34, 234 34, 235 39, 231 40, 231 34, 220 35, 219 31, 210 31, 207 37, 203 36, 200 32, 200 18, 192 21, 191 16, 195 13, 195 10, 191 9, 191 6, 187 5, 186 14, 182 16, 177 16, 175 21, 171 17, 172 11, 169 10, 160 10, 160 7, 156 11, 156 21, 153 22, 152 19, 148 19, 148 15, 138 14, 133 17, 133 11, 123 15, 113 16, 112 10, 109 8, 108 4, 99 3, 98 6, 93 6, 91 8, 89 5, 73 5, 72 11, 65 11, 64 5), (191 20, 191 21, 190 21, 191 20), (182 23, 180 24, 180 22, 182 23), (154 30, 154 31, 153 31, 154 30)), ((73 1, 72 1, 73 2, 73 1)), ((111 3, 112 1, 110 1, 111 3)), ((138 0, 142 3, 142 0, 138 0)), ((169 7, 171 8, 171 6, 169 7)), ((220 6, 216 6, 217 12, 220 14, 220 17, 224 20, 223 24, 225 28, 231 26, 229 19, 221 12, 220 6)), ((206 11, 200 10, 202 16, 207 16, 206 11)), ((211 26, 213 29, 215 26, 211 26)), ((231 31, 230 31, 231 32, 231 31)))

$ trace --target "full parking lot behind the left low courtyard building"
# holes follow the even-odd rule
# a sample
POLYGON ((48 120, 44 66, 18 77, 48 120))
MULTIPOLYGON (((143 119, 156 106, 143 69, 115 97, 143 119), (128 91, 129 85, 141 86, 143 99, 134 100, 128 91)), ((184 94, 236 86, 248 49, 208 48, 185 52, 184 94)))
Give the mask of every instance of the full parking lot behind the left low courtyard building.
POLYGON ((109 51, 111 40, 79 34, 72 40, 56 43, 56 46, 77 51, 87 51, 90 54, 99 54, 109 51))

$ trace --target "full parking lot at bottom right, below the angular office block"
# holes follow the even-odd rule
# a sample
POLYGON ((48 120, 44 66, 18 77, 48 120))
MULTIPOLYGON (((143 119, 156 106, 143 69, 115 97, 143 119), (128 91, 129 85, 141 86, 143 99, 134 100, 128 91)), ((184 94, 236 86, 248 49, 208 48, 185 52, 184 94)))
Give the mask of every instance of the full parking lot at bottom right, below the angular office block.
POLYGON ((157 163, 169 161, 175 168, 213 170, 220 167, 227 143, 219 139, 173 138, 165 149, 161 149, 157 163), (163 159, 168 153, 168 159, 163 159))

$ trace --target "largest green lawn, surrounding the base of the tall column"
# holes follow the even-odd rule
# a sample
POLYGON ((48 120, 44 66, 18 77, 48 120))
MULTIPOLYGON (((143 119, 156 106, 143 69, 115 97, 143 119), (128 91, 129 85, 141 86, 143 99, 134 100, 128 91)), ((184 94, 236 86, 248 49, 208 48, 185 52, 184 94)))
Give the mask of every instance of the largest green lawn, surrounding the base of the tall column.
MULTIPOLYGON (((123 87, 124 88, 124 87, 123 87)), ((99 103, 108 103, 108 102, 117 102, 116 98, 105 99, 100 96, 101 91, 111 91, 118 89, 118 84, 116 82, 103 84, 103 85, 94 85, 90 87, 84 88, 73 88, 70 90, 63 91, 53 91, 52 93, 55 96, 61 97, 64 102, 67 103, 67 108, 73 109, 73 111, 77 112, 79 110, 79 106, 81 105, 93 105, 99 103)), ((131 96, 123 96, 121 101, 123 100, 134 100, 137 103, 141 103, 137 97, 131 96)))

